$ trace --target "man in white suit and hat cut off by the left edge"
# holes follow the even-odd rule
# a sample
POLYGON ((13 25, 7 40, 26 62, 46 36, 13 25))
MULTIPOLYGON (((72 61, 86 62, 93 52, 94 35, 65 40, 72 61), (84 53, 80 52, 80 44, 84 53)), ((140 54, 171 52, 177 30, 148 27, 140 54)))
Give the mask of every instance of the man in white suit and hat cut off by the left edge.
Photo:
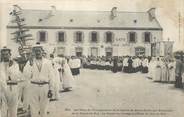
POLYGON ((7 47, 1 49, 0 75, 1 101, 7 107, 7 113, 2 116, 17 117, 19 66, 11 60, 11 50, 7 47))

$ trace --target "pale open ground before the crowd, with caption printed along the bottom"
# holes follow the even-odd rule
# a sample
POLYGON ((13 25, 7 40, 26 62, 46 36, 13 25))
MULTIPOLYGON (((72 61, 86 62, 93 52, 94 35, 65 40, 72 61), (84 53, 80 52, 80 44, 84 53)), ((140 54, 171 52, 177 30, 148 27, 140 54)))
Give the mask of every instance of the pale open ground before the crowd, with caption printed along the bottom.
POLYGON ((183 117, 184 91, 147 74, 81 70, 75 89, 51 102, 51 117, 183 117))

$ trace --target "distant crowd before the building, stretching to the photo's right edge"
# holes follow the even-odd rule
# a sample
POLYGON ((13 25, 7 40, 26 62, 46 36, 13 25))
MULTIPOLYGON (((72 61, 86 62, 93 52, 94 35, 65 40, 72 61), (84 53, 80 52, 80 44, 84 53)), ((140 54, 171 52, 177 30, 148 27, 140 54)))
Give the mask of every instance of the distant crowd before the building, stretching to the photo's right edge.
POLYGON ((91 70, 111 70, 113 73, 147 73, 154 82, 175 83, 182 88, 184 82, 183 55, 175 57, 82 57, 83 68, 91 70), (183 79, 183 80, 182 80, 183 79))

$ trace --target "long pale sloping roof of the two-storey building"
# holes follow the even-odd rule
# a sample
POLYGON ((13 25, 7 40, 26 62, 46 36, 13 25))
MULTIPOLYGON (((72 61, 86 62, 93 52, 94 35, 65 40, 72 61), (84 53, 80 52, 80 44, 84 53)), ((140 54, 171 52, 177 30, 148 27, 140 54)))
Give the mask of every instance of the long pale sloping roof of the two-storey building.
MULTIPOLYGON (((107 28, 156 28, 162 29, 157 19, 149 19, 148 12, 117 11, 112 19, 110 11, 55 11, 46 18, 49 10, 22 10, 26 26, 32 27, 107 27, 107 28), (45 19, 39 21, 40 19, 45 19)), ((9 22, 8 27, 16 26, 9 22)))

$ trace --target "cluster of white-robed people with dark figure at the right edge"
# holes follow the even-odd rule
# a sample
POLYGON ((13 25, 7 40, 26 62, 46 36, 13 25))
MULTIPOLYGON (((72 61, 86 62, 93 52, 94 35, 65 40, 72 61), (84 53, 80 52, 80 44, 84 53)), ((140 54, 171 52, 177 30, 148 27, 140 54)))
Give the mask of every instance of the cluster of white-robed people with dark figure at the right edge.
POLYGON ((174 83, 176 88, 183 88, 183 55, 176 55, 175 58, 153 58, 148 68, 148 77, 152 78, 154 82, 174 83))

